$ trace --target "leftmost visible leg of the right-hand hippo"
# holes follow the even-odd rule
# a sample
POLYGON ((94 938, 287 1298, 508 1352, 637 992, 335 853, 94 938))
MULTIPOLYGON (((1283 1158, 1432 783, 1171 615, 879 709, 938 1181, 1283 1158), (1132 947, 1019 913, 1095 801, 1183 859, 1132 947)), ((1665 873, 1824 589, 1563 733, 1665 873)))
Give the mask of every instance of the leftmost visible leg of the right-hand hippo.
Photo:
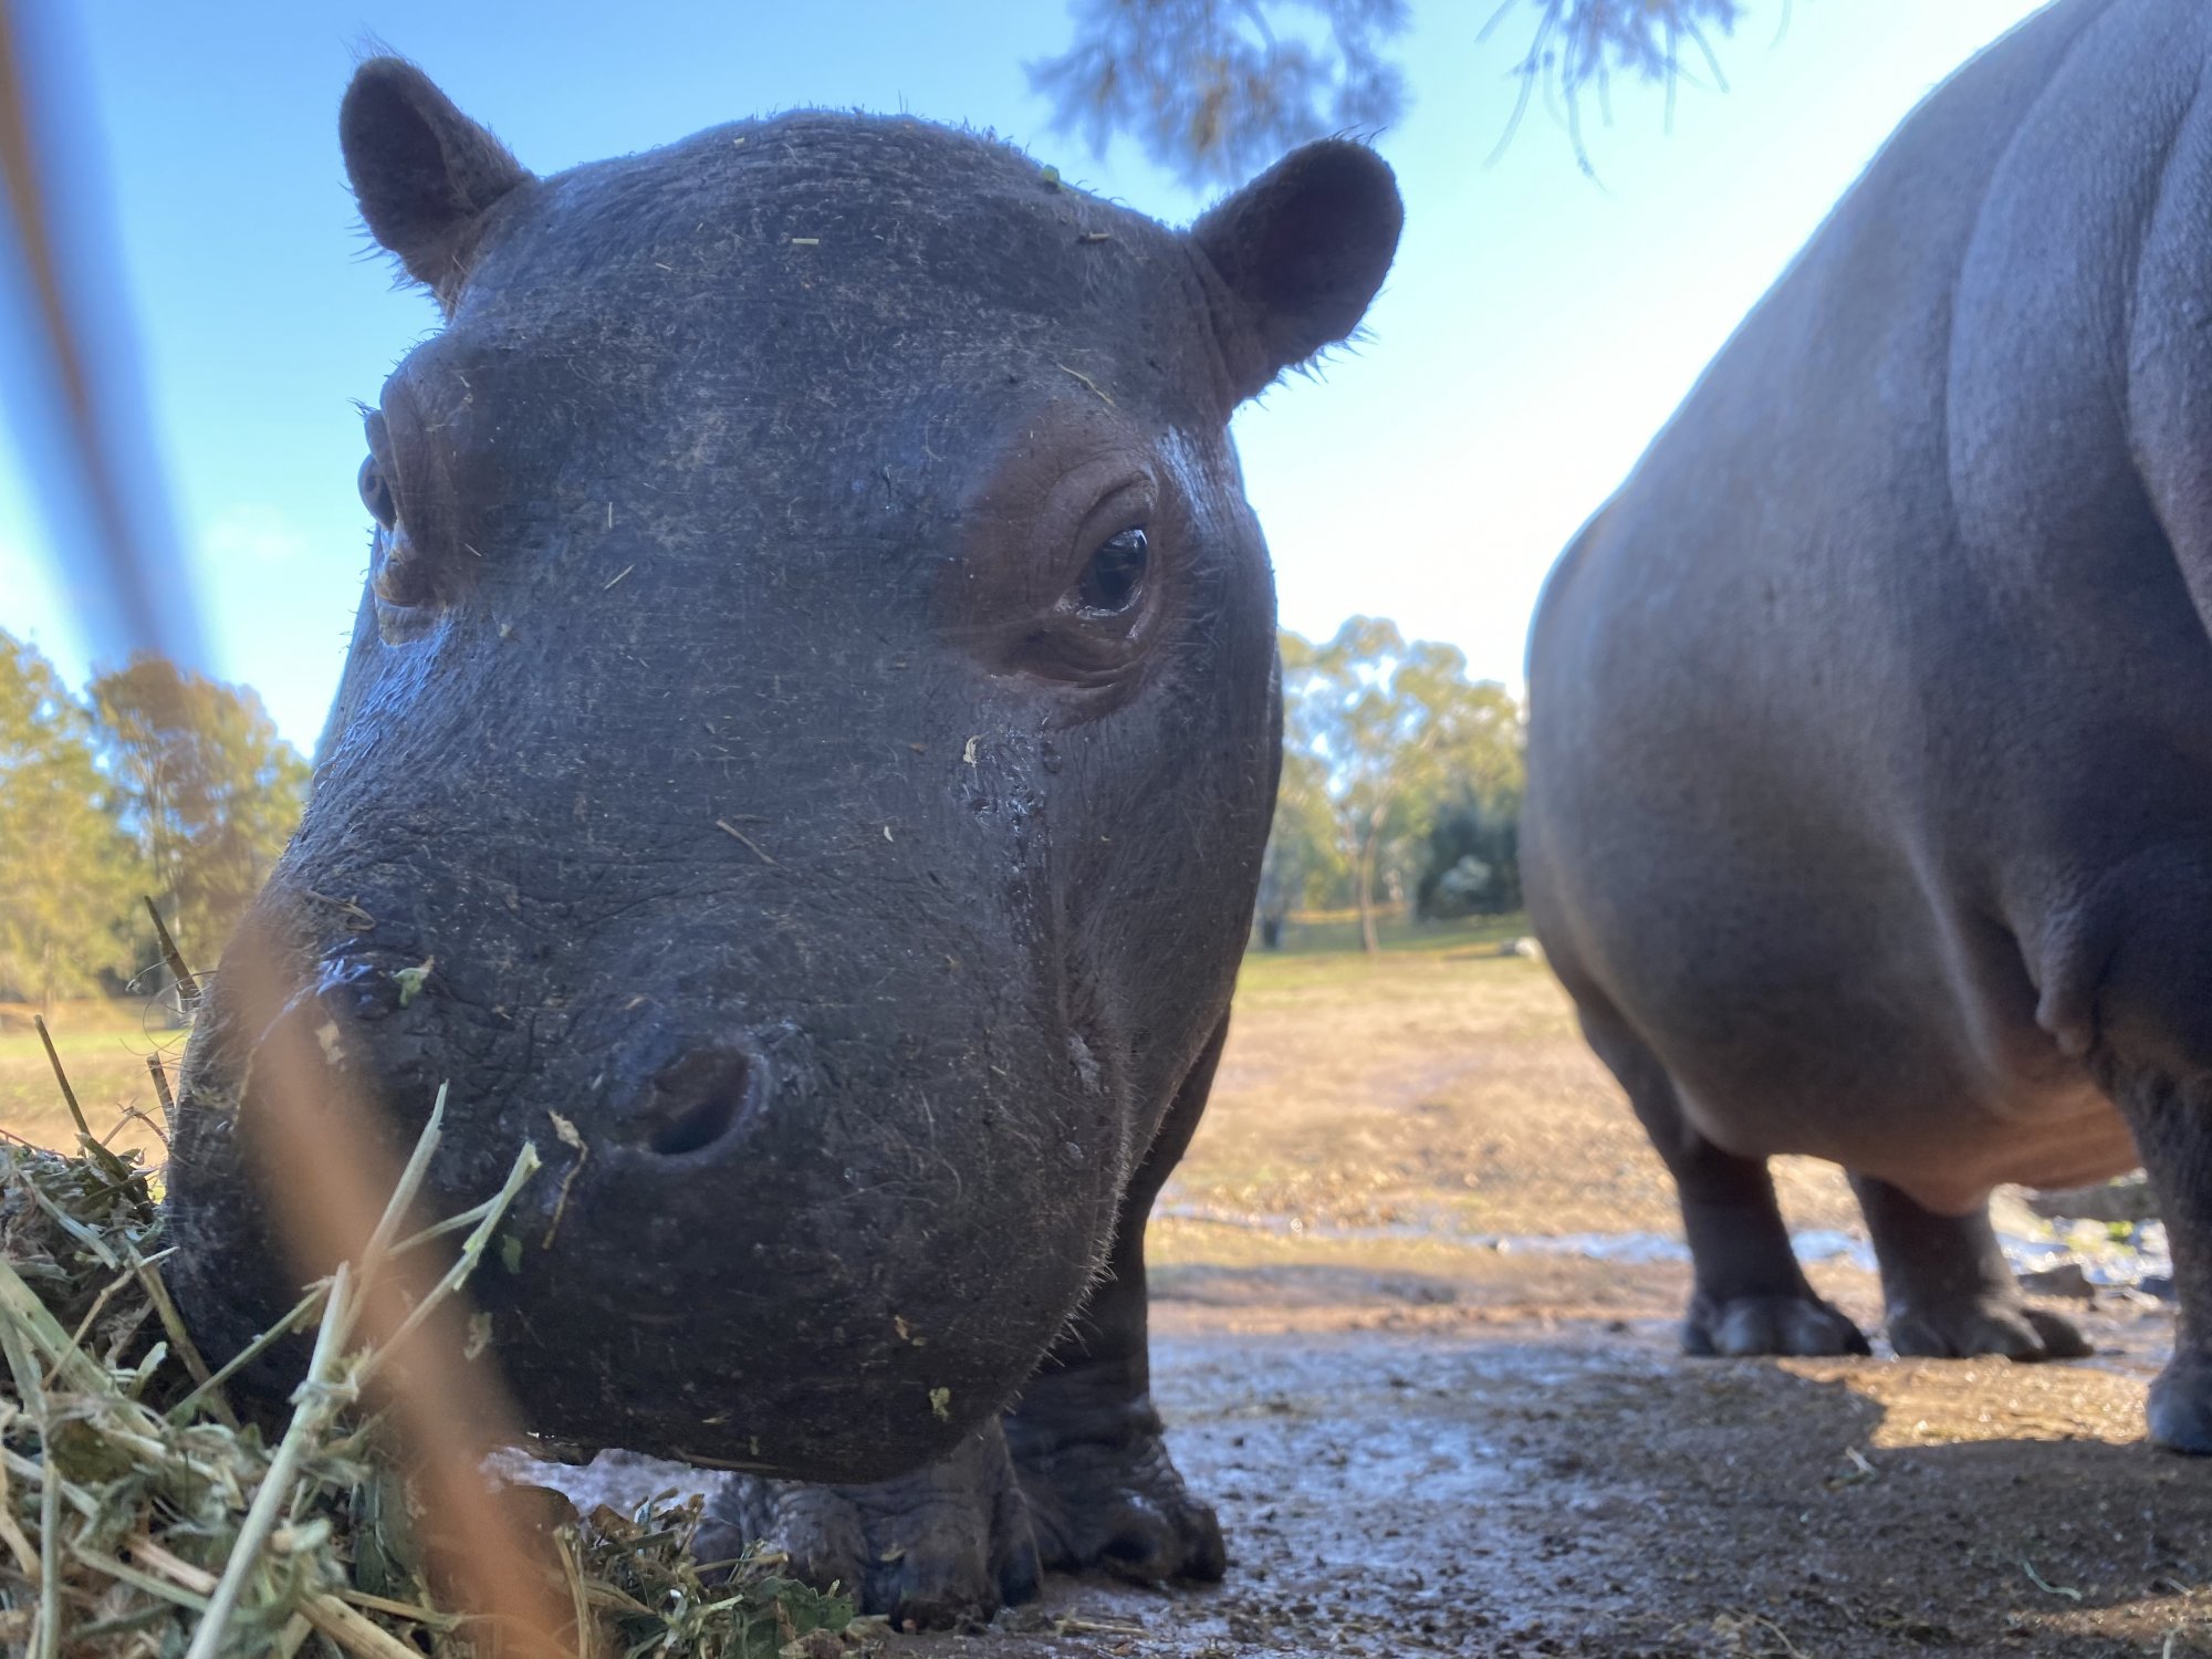
POLYGON ((1867 1338, 1814 1294, 1790 1248, 1767 1161, 1736 1157, 1681 1110, 1674 1079, 1628 1022, 1575 989, 1582 1033, 1606 1062, 1674 1177, 1694 1285, 1686 1354, 1865 1354, 1867 1338))

